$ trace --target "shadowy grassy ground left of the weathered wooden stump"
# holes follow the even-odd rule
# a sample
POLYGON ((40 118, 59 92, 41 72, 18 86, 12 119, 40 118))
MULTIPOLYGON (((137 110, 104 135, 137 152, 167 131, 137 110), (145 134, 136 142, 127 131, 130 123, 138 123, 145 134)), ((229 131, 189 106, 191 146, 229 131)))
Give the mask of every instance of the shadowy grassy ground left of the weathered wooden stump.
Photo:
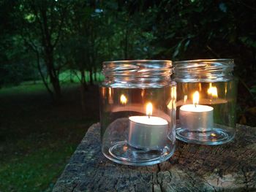
POLYGON ((96 86, 86 93, 86 112, 79 84, 61 87, 57 105, 39 82, 0 89, 0 191, 51 191, 87 128, 99 121, 96 86))

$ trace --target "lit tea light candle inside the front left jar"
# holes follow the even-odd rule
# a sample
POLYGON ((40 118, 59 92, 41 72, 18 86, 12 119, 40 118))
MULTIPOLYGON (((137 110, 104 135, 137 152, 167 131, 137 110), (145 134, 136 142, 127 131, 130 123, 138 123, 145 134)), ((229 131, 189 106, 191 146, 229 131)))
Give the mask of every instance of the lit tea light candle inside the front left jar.
POLYGON ((128 143, 132 147, 145 150, 157 150, 166 145, 167 120, 153 114, 153 105, 146 105, 146 116, 129 117, 128 143))

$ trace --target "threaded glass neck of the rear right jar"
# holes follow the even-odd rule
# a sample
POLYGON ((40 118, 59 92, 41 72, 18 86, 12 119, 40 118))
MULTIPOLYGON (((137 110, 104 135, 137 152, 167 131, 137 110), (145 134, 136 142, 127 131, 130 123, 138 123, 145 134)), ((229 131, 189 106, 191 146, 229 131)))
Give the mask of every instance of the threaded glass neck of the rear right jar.
POLYGON ((233 78, 233 59, 200 59, 174 62, 177 82, 223 82, 233 78))

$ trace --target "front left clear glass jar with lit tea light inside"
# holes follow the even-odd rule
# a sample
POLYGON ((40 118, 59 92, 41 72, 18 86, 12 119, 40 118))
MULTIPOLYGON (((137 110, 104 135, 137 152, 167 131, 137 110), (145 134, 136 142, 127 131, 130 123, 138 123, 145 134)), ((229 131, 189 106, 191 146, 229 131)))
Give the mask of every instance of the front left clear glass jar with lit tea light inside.
POLYGON ((108 61, 102 72, 102 153, 116 163, 138 166, 170 158, 176 140, 172 62, 108 61))

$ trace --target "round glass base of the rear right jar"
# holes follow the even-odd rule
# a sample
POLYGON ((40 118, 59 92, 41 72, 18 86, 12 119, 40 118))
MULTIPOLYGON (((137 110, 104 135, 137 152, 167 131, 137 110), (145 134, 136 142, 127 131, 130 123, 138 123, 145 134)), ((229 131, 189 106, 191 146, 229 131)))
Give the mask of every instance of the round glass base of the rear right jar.
POLYGON ((215 127, 210 131, 190 131, 187 128, 176 128, 176 139, 199 145, 222 145, 230 142, 234 134, 226 129, 215 127))

